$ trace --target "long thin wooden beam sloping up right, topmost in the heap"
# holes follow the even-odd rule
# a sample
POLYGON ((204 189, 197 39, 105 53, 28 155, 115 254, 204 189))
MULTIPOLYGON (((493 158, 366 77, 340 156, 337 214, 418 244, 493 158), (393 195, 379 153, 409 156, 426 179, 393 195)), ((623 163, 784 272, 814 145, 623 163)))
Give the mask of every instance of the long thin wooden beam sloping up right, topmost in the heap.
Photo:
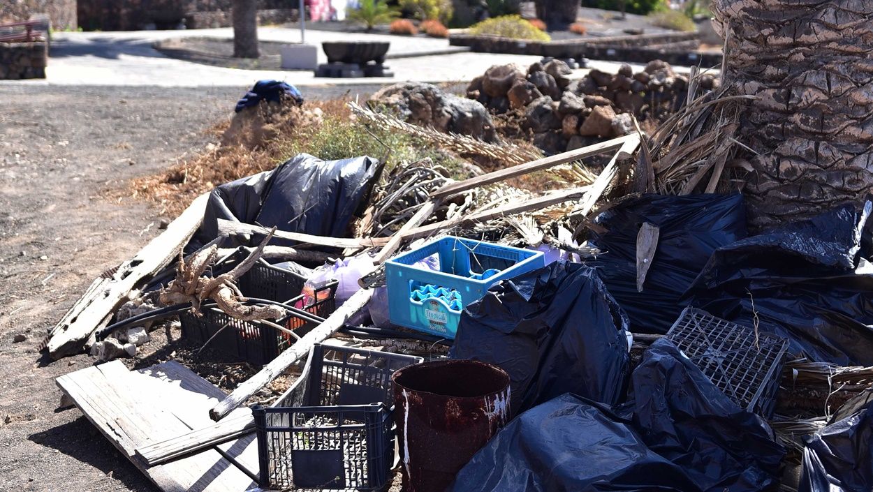
MULTIPOLYGON (((457 195, 458 193, 466 191, 468 189, 478 188, 481 186, 489 185, 491 183, 496 183, 498 181, 505 181, 509 178, 514 178, 524 174, 530 174, 535 171, 542 171, 543 169, 548 169, 549 167, 559 166, 560 164, 567 164, 567 162, 579 161, 580 159, 585 159, 586 157, 591 157, 593 155, 604 154, 617 148, 621 148, 628 140, 632 139, 636 139, 638 141, 639 137, 637 135, 625 135, 617 139, 607 140, 605 142, 596 143, 595 145, 589 145, 588 147, 581 147, 561 154, 554 154, 549 157, 538 159, 536 161, 527 162, 526 164, 519 164, 518 166, 512 167, 504 167, 503 169, 498 169, 497 171, 493 171, 488 174, 482 174, 480 176, 470 178, 469 180, 449 183, 443 186, 443 188, 437 189, 434 193, 430 195, 430 197, 445 198, 451 195, 457 195)), ((639 144, 637 143, 637 145, 639 144)))

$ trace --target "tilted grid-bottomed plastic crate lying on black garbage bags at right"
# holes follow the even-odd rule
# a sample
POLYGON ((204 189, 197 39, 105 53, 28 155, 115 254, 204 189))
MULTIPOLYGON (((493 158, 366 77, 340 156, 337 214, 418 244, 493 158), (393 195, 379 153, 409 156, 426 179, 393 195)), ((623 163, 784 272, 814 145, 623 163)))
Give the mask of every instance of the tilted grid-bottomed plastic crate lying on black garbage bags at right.
POLYGON ((773 415, 788 340, 687 307, 667 332, 731 400, 749 412, 773 415))

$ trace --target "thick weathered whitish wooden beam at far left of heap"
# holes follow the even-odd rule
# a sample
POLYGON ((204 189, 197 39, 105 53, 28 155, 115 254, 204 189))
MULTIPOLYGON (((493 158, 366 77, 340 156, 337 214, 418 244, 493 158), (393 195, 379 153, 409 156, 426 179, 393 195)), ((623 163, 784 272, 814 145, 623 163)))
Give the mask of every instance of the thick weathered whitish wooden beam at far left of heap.
POLYGON ((52 328, 52 338, 46 344, 52 359, 81 351, 92 333, 102 328, 112 313, 127 302, 130 292, 141 280, 155 275, 178 256, 203 222, 208 200, 208 193, 198 196, 160 236, 121 263, 106 282, 92 284, 86 292, 87 299, 79 299, 74 304, 75 311, 67 312, 52 328))

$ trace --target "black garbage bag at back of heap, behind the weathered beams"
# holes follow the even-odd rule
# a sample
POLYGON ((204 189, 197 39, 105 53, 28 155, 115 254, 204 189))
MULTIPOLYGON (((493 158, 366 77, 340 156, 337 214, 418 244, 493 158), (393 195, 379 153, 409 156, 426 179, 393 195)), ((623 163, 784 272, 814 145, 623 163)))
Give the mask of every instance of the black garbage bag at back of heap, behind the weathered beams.
POLYGON ((255 223, 315 236, 347 237, 348 225, 375 184, 372 157, 322 161, 299 154, 281 166, 212 191, 196 238, 218 235, 217 219, 255 223))

